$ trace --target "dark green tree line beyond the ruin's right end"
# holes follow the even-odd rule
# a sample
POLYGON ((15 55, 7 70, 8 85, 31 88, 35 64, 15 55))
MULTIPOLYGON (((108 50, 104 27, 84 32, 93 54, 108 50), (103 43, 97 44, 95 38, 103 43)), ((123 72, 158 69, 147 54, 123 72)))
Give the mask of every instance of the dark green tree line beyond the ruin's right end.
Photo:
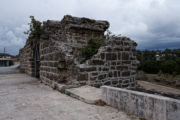
POLYGON ((180 74, 180 49, 137 51, 139 70, 146 73, 180 74))

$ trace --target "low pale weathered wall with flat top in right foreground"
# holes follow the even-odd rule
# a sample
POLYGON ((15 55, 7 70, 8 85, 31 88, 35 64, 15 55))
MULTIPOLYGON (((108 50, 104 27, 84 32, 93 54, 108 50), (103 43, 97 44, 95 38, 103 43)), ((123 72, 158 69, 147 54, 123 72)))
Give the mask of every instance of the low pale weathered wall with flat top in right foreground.
POLYGON ((102 100, 147 120, 180 120, 180 100, 108 86, 102 86, 102 100))

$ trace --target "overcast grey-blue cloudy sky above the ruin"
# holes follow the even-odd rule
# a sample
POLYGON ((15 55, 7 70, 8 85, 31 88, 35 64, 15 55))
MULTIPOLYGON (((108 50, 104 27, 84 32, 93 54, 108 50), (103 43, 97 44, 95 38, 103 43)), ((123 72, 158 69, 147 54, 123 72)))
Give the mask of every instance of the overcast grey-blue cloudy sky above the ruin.
POLYGON ((18 54, 30 15, 45 21, 66 14, 108 20, 110 31, 138 49, 180 48, 180 0, 0 0, 0 52, 18 54))

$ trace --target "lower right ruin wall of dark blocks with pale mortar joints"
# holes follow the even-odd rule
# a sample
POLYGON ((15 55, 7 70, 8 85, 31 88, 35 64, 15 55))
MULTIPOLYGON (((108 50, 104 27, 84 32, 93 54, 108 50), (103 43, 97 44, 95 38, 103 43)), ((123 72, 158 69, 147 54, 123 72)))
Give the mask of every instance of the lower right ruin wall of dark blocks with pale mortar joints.
POLYGON ((126 37, 111 37, 96 55, 79 65, 79 81, 99 87, 135 87, 136 43, 126 37))

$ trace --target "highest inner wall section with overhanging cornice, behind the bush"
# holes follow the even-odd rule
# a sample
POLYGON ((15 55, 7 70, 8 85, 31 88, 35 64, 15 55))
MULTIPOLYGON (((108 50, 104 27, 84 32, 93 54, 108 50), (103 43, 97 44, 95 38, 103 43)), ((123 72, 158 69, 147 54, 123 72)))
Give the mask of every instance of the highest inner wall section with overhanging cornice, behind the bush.
POLYGON ((104 32, 109 27, 107 21, 97 21, 88 18, 65 16, 61 21, 65 30, 66 44, 69 54, 73 55, 77 64, 82 59, 82 48, 90 39, 104 37, 104 32))

